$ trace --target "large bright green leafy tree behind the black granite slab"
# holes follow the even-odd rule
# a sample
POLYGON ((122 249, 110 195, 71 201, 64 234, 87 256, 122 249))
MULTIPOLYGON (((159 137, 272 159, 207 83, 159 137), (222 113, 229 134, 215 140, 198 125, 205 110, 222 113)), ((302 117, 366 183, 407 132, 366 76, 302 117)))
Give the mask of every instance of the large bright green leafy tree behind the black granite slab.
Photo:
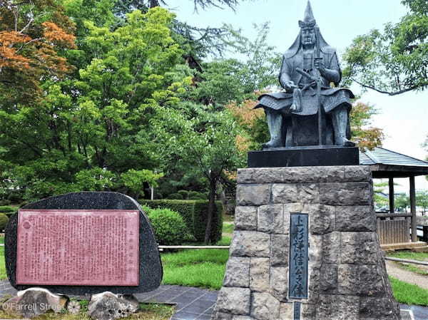
POLYGON ((167 164, 152 108, 174 108, 190 83, 173 18, 155 8, 113 30, 85 21, 93 58, 78 78, 45 81, 38 104, 0 112, 3 186, 35 199, 153 184, 167 164))

